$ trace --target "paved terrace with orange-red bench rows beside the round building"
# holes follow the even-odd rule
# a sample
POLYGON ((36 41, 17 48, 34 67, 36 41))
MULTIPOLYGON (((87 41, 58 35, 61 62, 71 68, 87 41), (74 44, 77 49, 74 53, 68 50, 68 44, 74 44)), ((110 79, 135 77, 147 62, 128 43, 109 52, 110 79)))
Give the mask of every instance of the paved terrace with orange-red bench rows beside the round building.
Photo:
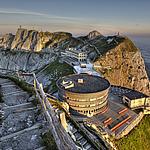
POLYGON ((138 117, 134 111, 127 108, 119 96, 109 94, 108 108, 105 112, 86 117, 74 115, 77 121, 95 124, 97 128, 103 128, 107 134, 118 137, 138 117))

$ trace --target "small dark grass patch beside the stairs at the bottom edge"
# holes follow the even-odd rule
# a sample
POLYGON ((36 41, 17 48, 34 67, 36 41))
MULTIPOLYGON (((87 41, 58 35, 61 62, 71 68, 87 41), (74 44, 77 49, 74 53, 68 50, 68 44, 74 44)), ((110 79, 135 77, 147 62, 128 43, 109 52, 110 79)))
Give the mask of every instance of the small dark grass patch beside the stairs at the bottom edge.
POLYGON ((53 135, 50 131, 42 135, 43 145, 46 146, 47 150, 58 150, 53 135))

